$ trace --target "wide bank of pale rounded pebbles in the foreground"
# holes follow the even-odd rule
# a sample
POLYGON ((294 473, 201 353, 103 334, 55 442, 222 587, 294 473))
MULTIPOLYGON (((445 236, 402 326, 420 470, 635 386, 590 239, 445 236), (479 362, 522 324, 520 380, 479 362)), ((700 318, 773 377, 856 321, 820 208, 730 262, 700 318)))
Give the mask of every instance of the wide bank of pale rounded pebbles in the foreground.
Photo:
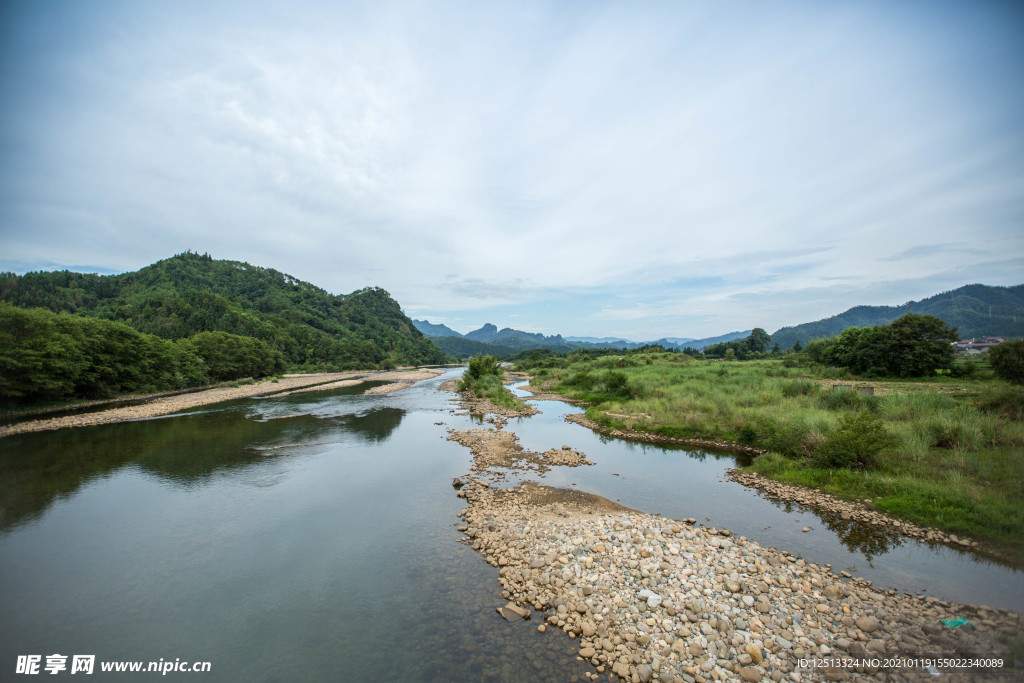
MULTIPOLYGON (((511 603, 503 615, 532 617, 536 609, 539 631, 579 638, 594 678, 823 681, 877 675, 874 663, 861 663, 898 655, 987 653, 1012 661, 1010 643, 1024 629, 1016 612, 878 591, 727 530, 581 492, 529 482, 503 490, 473 479, 461 493, 469 506, 460 530, 499 567, 511 603), (951 618, 972 626, 942 624, 951 618), (800 665, 814 657, 859 661, 800 665)), ((910 673, 889 672, 893 680, 910 673)), ((912 673, 924 674, 920 667, 912 673)))

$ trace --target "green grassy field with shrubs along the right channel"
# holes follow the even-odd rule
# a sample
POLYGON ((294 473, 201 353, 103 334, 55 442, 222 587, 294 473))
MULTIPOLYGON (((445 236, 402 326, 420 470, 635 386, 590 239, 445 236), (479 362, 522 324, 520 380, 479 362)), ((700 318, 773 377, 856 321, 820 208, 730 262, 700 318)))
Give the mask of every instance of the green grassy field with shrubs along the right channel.
POLYGON ((751 470, 871 499, 1024 560, 1024 387, 948 377, 858 383, 780 360, 675 353, 563 365, 518 369, 593 402, 588 417, 605 426, 764 449, 751 470))

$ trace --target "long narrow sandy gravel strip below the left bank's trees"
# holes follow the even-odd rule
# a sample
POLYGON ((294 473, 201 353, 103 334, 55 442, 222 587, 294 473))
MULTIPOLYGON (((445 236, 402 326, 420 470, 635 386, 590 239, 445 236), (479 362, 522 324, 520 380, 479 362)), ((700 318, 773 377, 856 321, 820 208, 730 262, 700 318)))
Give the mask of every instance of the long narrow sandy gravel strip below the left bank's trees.
MULTIPOLYGON (((92 425, 128 422, 170 415, 190 408, 199 408, 211 403, 253 396, 283 396, 300 391, 329 390, 345 386, 353 386, 368 379, 387 381, 408 380, 412 382, 430 379, 441 374, 438 370, 416 370, 407 372, 379 373, 378 371, 361 371, 349 373, 315 373, 308 375, 285 375, 280 379, 264 380, 241 386, 218 387, 204 389, 190 393, 176 393, 172 396, 162 396, 134 405, 124 405, 95 413, 68 415, 44 420, 30 420, 0 427, 0 438, 11 434, 65 429, 69 427, 89 427, 92 425)), ((387 386, 387 385, 385 385, 387 386)), ((395 390, 395 389, 392 389, 395 390)))

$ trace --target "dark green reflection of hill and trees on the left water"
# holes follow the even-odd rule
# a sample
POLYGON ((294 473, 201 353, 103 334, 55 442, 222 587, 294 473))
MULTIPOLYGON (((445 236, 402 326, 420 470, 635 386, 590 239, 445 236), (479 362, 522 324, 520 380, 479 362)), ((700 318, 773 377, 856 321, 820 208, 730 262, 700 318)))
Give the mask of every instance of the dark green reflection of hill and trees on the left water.
POLYGON ((403 416, 388 407, 259 422, 241 411, 218 411, 8 436, 0 452, 0 530, 38 518, 59 498, 126 465, 200 485, 216 473, 295 452, 281 445, 313 445, 339 427, 362 441, 385 440, 403 416))

